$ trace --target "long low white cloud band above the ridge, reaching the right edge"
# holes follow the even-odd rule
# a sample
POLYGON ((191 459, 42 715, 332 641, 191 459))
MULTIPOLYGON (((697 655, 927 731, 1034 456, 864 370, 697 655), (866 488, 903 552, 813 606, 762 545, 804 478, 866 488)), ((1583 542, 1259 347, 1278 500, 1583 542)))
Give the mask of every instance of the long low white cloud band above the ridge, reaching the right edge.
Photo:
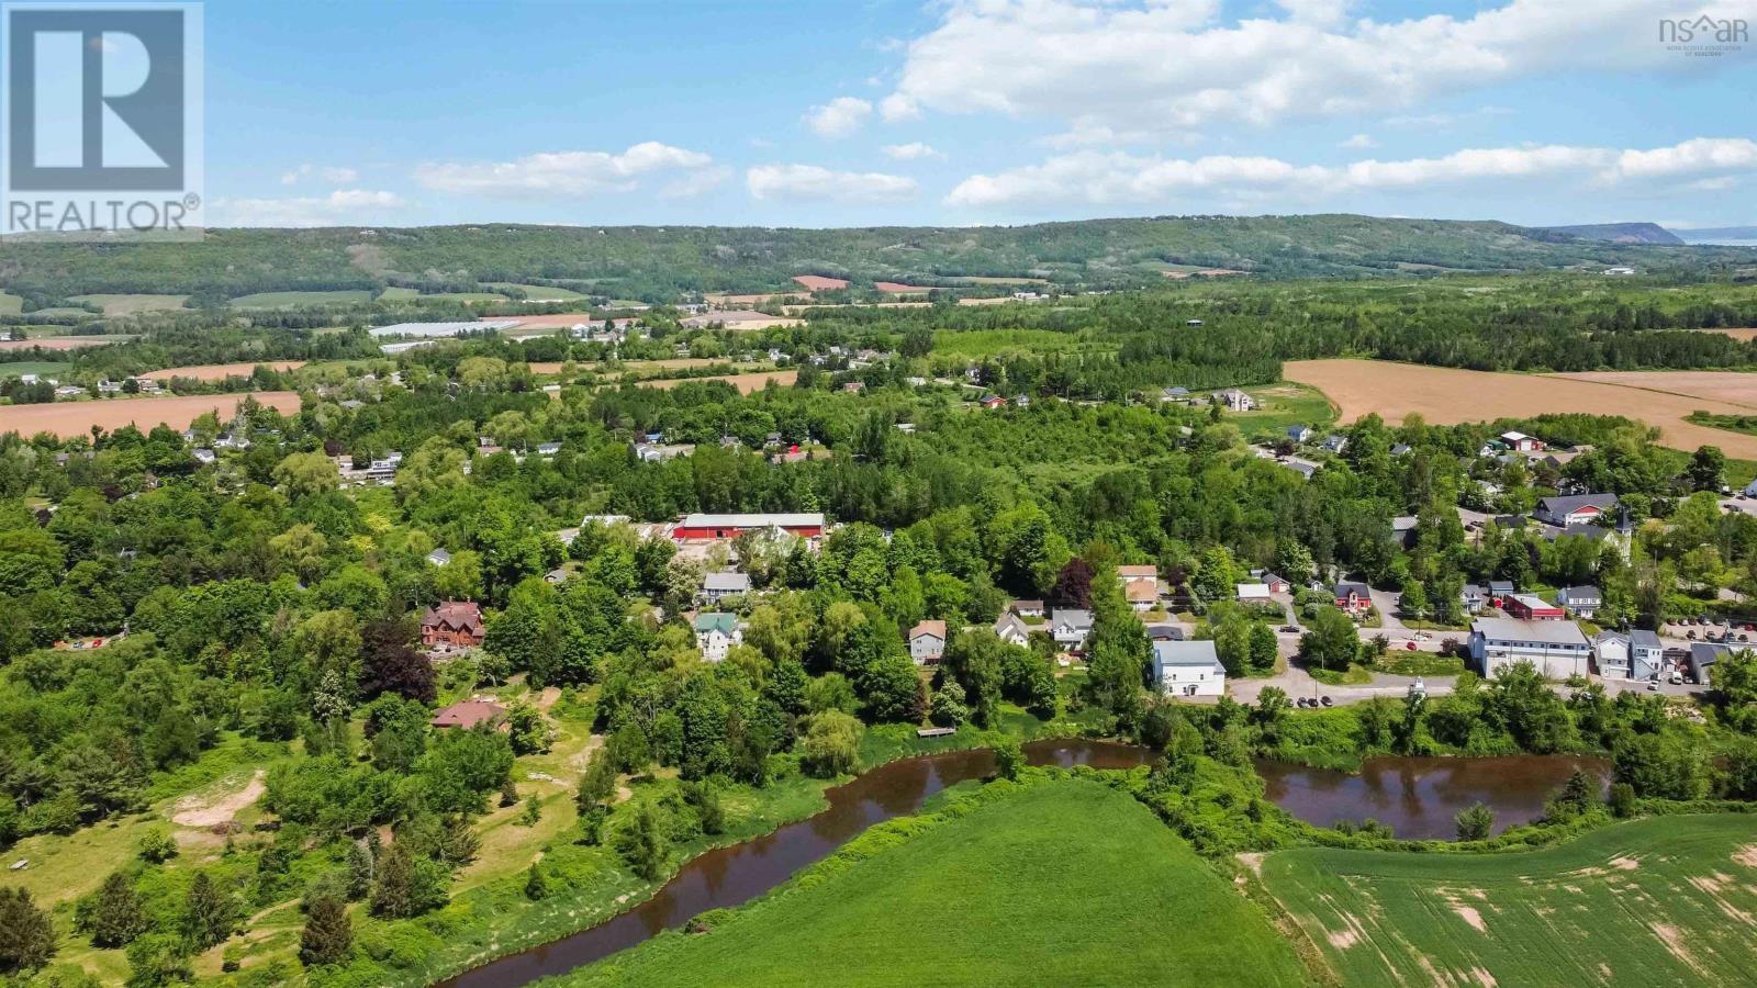
POLYGON ((1565 144, 1472 148, 1441 158, 1360 160, 1297 165, 1265 156, 1195 160, 1077 151, 1000 174, 977 174, 945 197, 951 206, 1005 207, 1023 202, 1153 206, 1177 195, 1230 197, 1232 202, 1406 190, 1479 179, 1571 179, 1601 186, 1645 179, 1715 179, 1757 172, 1757 141, 1697 137, 1671 148, 1616 149, 1565 144))

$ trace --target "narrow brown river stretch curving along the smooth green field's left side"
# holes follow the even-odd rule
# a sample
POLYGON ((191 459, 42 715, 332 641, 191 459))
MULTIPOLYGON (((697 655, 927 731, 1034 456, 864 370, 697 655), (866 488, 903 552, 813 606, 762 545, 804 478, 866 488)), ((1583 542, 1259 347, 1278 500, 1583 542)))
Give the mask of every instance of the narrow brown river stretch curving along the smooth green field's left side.
MULTIPOLYGON (((1147 749, 1096 740, 1042 740, 1024 745, 1031 765, 1133 768, 1151 763, 1147 749)), ((919 812, 933 795, 994 772, 987 749, 905 758, 824 791, 829 809, 773 833, 706 851, 691 860, 657 895, 596 926, 504 956, 460 974, 445 986, 511 988, 566 974, 631 948, 691 918, 752 898, 785 883, 799 868, 828 858, 875 823, 919 812)))

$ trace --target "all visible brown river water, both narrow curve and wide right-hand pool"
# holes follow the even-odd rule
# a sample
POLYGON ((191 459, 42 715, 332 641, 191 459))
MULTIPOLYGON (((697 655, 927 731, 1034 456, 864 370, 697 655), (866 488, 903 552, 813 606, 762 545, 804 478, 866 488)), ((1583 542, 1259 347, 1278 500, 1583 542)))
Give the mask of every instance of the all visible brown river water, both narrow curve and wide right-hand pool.
MULTIPOLYGON (((1031 765, 1135 768, 1149 765, 1142 747, 1066 738, 1024 745, 1031 765)), ((1453 814, 1483 800, 1495 809, 1495 830, 1536 819, 1544 798, 1580 766, 1601 781, 1609 766, 1597 758, 1376 758, 1360 775, 1260 761, 1269 798, 1293 816, 1328 826, 1339 819, 1374 817, 1397 837, 1455 835, 1453 814)), ((852 837, 898 816, 919 812, 936 793, 994 772, 987 749, 905 758, 824 791, 829 809, 773 833, 706 851, 691 860, 657 895, 596 926, 555 942, 488 962, 443 988, 517 988, 566 974, 627 949, 691 918, 740 905, 785 883, 799 868, 828 858, 852 837)))

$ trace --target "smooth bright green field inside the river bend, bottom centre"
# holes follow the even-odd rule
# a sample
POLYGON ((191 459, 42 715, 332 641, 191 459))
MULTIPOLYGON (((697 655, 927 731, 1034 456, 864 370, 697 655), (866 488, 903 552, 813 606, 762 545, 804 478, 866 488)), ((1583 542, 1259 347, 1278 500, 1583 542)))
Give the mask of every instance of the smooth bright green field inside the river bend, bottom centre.
POLYGON ((1302 984, 1267 918, 1133 798, 1059 781, 666 934, 575 984, 1302 984))

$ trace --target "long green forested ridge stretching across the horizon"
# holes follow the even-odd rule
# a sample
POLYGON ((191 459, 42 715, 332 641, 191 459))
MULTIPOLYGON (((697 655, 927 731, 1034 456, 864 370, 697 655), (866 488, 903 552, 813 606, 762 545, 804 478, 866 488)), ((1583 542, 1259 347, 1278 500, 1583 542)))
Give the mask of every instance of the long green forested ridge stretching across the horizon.
POLYGON ((770 290, 794 274, 910 285, 1030 276, 1059 287, 1161 283, 1223 267, 1260 278, 1374 278, 1636 264, 1643 271, 1748 265, 1738 248, 1664 250, 1497 222, 1372 216, 1175 216, 1031 227, 529 227, 213 230, 200 244, 0 241, 0 288, 53 304, 77 294, 188 294, 192 304, 257 292, 480 290, 553 285, 666 301, 678 292, 770 290))

